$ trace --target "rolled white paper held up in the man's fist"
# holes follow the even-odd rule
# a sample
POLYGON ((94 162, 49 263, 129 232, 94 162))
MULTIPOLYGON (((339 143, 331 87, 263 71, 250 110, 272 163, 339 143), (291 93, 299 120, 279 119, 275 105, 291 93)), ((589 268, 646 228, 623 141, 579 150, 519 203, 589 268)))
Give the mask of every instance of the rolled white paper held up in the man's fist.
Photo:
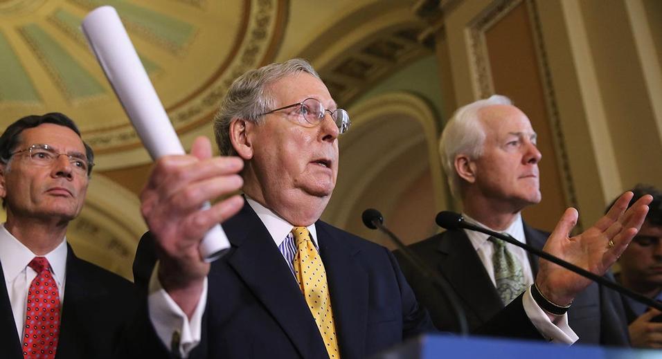
MULTIPOLYGON (((185 154, 116 10, 96 8, 83 19, 82 32, 152 159, 185 154)), ((208 208, 204 203, 202 210, 208 208)), ((220 224, 200 243, 206 261, 220 258, 227 248, 230 242, 220 224)))

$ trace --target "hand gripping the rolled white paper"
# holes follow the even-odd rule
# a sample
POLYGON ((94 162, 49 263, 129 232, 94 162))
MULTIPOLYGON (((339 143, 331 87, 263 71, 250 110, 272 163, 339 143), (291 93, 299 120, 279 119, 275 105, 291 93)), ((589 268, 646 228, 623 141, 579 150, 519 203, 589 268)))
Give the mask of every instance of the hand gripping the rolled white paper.
POLYGON ((141 193, 141 212, 159 256, 159 280, 188 315, 195 310, 210 267, 202 259, 199 243, 213 225, 237 213, 244 201, 234 195, 208 210, 200 208, 239 190, 242 167, 240 158, 212 157, 211 143, 199 137, 190 155, 159 158, 141 193))

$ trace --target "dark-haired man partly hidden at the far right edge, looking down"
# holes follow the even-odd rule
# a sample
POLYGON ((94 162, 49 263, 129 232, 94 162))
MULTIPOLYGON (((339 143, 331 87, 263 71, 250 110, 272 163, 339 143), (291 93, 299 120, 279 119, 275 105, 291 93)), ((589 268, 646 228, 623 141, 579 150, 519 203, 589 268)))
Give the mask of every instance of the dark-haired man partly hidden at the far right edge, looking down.
MULTIPOLYGON (((623 286, 662 301, 662 193, 655 187, 637 185, 636 199, 650 194, 653 201, 641 230, 618 259, 618 281, 623 286)), ((623 296, 633 347, 662 349, 662 316, 655 309, 623 296)))

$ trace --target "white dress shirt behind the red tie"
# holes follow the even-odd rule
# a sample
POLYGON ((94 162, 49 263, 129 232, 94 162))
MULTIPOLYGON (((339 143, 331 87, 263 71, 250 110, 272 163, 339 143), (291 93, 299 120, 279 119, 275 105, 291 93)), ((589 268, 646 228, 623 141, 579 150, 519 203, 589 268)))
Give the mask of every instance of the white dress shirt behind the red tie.
MULTIPOLYGON (((53 279, 57 284, 57 291, 60 292, 60 305, 64 304, 64 279, 66 278, 66 238, 62 238, 54 250, 46 255, 48 263, 53 269, 53 279)), ((23 331, 26 320, 26 305, 28 301, 28 289, 33 279, 37 277, 37 272, 30 268, 28 264, 37 255, 28 247, 24 246, 16 237, 6 230, 4 223, 0 228, 0 263, 5 277, 5 285, 9 295, 9 302, 14 314, 14 323, 19 340, 23 341, 23 331)))

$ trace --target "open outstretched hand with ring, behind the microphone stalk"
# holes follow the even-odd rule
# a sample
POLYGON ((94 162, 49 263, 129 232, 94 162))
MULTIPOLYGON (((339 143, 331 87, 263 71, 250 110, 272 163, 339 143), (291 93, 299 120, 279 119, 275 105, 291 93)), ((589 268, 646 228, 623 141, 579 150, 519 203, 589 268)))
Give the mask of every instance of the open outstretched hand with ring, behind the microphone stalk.
MULTIPOLYGON (((578 213, 574 208, 569 208, 543 250, 591 273, 605 274, 641 228, 648 204, 652 201, 652 196, 643 196, 627 208, 632 196, 632 192, 625 192, 604 217, 582 234, 571 238, 568 235, 577 223, 578 213)), ((544 259, 540 259, 535 282, 544 297, 560 306, 571 303, 575 295, 591 283, 590 279, 544 259)))

